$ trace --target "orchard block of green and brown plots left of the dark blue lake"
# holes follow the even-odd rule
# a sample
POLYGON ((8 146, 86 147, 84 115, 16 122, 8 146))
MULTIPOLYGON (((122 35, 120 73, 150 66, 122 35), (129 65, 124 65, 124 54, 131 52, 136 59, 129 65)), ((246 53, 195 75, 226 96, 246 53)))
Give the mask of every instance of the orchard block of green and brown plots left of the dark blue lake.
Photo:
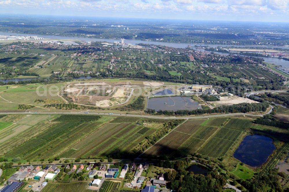
POLYGON ((223 157, 252 124, 249 120, 236 118, 225 124, 226 121, 227 118, 186 121, 146 150, 144 155, 186 157, 201 153, 209 157, 223 157), (239 126, 236 127, 236 124, 239 126))

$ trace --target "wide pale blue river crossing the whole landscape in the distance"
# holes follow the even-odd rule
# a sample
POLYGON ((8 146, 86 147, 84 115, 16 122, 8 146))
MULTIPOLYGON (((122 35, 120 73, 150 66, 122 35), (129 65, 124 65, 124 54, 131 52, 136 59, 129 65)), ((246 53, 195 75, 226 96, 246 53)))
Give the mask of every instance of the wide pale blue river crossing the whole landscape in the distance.
MULTIPOLYGON (((101 42, 110 42, 113 43, 114 41, 121 42, 121 39, 99 39, 99 38, 89 38, 89 37, 64 37, 64 36, 57 36, 57 35, 35 35, 35 34, 26 34, 26 33, 8 33, 8 32, 0 32, 0 35, 12 35, 12 36, 38 36, 43 37, 46 39, 75 39, 81 41, 101 41, 101 42)), ((143 44, 154 44, 154 45, 162 45, 162 46, 169 46, 174 48, 186 48, 188 45, 194 48, 195 45, 197 46, 210 46, 210 47, 217 47, 217 46, 227 46, 227 47, 266 47, 266 48, 284 48, 289 49, 289 47, 279 47, 279 46, 254 46, 254 45, 220 45, 220 44, 190 44, 190 43, 170 43, 170 42, 157 42, 157 41, 142 41, 142 40, 134 40, 134 39, 126 39, 125 43, 131 43, 133 45, 143 43, 143 44)), ((216 52, 218 54, 226 55, 227 53, 223 52, 216 52)), ((266 62, 273 63, 276 65, 282 65, 283 67, 289 67, 289 61, 273 58, 273 57, 262 57, 266 62)))

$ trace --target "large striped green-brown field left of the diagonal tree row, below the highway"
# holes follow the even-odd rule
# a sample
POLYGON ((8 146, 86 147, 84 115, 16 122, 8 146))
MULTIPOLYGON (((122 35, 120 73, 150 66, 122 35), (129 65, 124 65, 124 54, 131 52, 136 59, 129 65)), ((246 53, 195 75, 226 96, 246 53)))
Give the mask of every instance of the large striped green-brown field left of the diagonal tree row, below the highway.
MULTIPOLYGON (((3 119, 10 119, 9 116, 3 119)), ((1 156, 19 157, 27 161, 57 156, 135 156, 134 149, 138 148, 140 143, 148 143, 146 138, 164 127, 163 123, 157 122, 152 125, 142 124, 147 120, 135 117, 89 114, 31 114, 21 117, 16 123, 10 123, 11 126, 0 130, 1 156), (140 123, 137 123, 138 121, 140 123), (31 125, 31 122, 34 125, 31 125), (11 142, 12 140, 15 142, 11 142)))

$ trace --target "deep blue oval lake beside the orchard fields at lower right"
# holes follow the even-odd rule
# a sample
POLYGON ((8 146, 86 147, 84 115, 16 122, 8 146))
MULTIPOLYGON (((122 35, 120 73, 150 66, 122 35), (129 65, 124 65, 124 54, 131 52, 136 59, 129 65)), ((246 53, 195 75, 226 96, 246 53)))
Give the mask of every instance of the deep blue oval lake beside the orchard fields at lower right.
POLYGON ((276 149, 273 140, 263 135, 247 135, 234 157, 251 167, 260 167, 276 149))

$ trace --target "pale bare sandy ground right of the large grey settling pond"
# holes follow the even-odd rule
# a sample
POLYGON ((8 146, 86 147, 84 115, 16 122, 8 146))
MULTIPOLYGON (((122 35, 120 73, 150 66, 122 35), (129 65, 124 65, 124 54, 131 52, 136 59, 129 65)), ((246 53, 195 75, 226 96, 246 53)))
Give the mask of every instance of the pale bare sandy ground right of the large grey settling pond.
POLYGON ((234 105, 239 103, 258 103, 258 102, 244 97, 226 96, 221 97, 220 101, 210 101, 209 103, 212 104, 212 106, 214 107, 218 107, 221 105, 234 105))

